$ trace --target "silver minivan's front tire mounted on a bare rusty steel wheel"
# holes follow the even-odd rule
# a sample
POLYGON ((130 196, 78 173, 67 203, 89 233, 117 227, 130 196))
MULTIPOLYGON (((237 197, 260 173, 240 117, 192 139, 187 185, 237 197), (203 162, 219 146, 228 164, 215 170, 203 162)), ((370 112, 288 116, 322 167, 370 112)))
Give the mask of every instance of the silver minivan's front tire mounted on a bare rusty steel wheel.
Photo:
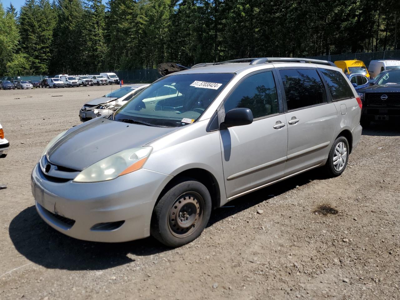
POLYGON ((206 228, 211 208, 211 196, 206 186, 192 178, 184 178, 172 186, 154 207, 150 233, 169 247, 188 244, 206 228), (178 215, 181 218, 173 217, 178 215))

